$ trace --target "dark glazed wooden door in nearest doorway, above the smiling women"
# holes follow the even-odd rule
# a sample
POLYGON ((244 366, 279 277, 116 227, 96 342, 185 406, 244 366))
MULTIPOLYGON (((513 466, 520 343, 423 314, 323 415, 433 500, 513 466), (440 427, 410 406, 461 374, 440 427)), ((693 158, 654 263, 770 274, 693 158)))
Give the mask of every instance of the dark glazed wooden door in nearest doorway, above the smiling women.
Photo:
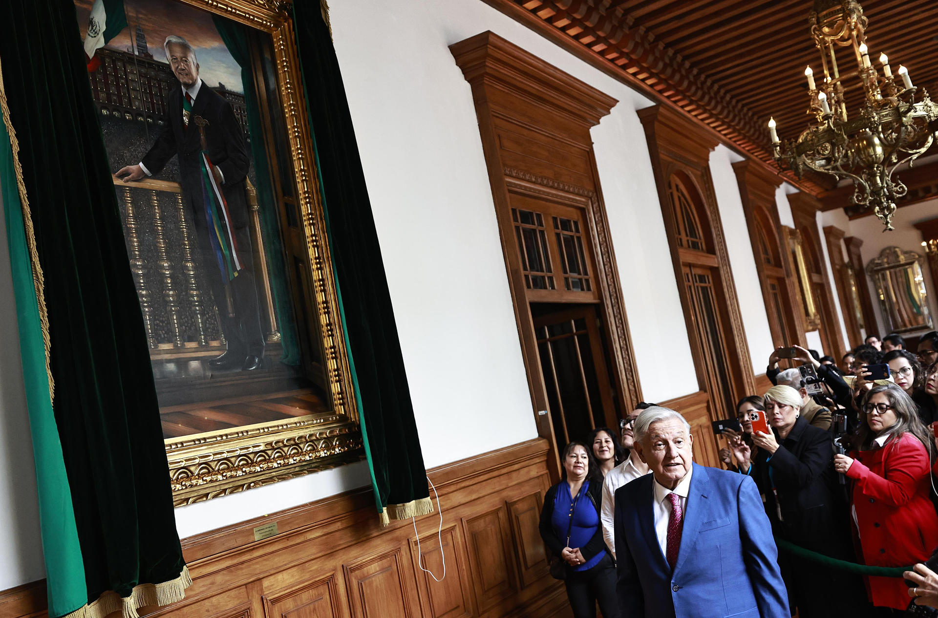
POLYGON ((595 306, 537 317, 535 334, 557 452, 571 441, 585 441, 597 427, 613 428, 613 387, 595 306))

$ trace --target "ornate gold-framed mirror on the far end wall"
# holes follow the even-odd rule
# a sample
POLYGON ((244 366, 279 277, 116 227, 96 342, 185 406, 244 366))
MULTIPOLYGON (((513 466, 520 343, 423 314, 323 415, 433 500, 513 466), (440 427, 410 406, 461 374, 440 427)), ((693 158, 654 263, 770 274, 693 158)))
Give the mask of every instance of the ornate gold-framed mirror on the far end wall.
POLYGON ((908 333, 932 327, 920 261, 915 251, 886 247, 867 264, 888 332, 908 333))

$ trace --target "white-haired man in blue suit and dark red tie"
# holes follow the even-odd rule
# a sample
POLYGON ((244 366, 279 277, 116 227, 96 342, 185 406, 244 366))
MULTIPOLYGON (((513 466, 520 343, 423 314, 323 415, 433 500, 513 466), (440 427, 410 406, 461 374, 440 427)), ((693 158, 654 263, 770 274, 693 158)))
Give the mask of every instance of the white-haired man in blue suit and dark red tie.
POLYGON ((615 492, 620 618, 789 618, 759 490, 693 463, 692 445, 674 410, 648 408, 635 422, 652 474, 615 492))

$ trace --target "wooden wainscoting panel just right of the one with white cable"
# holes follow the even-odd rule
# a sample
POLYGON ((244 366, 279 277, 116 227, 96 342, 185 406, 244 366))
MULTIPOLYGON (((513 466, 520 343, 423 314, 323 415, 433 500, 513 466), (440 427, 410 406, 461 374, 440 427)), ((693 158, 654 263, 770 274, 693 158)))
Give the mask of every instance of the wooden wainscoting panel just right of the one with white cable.
POLYGON ((505 507, 464 519, 462 528, 469 550, 477 607, 479 612, 485 612, 515 590, 508 559, 510 533, 505 507))

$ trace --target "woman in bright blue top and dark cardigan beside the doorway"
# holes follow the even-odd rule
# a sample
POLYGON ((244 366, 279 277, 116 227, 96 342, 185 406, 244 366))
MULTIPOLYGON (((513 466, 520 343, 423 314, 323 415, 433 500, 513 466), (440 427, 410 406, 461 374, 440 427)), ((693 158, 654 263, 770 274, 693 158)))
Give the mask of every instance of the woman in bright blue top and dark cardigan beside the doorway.
POLYGON ((618 616, 615 564, 602 537, 599 513, 602 478, 590 449, 580 442, 564 448, 562 480, 544 496, 540 535, 566 563, 567 598, 574 618, 618 616))

